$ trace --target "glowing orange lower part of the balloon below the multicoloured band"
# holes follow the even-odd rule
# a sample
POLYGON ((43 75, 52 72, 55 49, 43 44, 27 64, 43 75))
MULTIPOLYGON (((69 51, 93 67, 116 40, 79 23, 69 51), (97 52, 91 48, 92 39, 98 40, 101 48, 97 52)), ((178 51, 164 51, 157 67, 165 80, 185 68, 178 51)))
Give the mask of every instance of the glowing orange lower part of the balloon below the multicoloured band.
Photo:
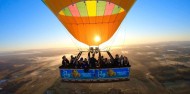
POLYGON ((69 17, 59 15, 58 18, 77 40, 89 46, 97 46, 113 36, 125 15, 126 12, 104 16, 102 21, 98 20, 102 19, 101 16, 69 17), (99 41, 96 40, 97 37, 100 38, 99 41))

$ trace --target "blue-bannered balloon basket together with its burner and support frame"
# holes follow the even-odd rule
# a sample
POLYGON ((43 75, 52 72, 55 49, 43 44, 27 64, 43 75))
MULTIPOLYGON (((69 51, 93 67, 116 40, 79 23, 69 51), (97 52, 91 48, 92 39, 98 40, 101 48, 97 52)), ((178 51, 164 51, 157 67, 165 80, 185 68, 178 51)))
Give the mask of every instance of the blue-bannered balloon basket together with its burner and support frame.
MULTIPOLYGON (((90 47, 88 51, 80 51, 74 62, 78 61, 83 52, 88 52, 88 58, 99 54, 98 62, 101 60, 101 52, 106 52, 110 57, 110 62, 114 63, 114 58, 109 51, 100 51, 98 47, 90 47)), ((90 60, 90 59, 89 59, 90 60)), ((115 82, 129 81, 130 65, 122 67, 97 67, 88 69, 60 68, 60 76, 64 82, 115 82)))

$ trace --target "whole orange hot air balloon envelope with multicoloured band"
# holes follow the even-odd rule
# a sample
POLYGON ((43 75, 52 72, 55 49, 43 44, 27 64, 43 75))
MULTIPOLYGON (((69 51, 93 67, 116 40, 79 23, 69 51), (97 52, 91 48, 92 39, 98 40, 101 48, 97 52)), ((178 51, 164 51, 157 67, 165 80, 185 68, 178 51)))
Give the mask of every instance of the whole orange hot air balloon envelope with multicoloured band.
POLYGON ((74 38, 99 46, 117 31, 136 0, 43 0, 74 38))

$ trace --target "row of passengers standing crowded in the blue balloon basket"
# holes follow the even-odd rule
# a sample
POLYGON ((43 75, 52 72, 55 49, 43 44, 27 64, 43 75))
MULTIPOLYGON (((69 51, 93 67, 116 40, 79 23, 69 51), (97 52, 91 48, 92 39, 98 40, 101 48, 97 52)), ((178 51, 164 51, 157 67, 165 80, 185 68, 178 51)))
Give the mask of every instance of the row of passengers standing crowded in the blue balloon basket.
POLYGON ((62 66, 60 68, 75 68, 75 69, 89 69, 89 68, 114 68, 114 67, 129 67, 129 61, 126 56, 115 55, 113 60, 104 58, 101 56, 98 60, 92 55, 89 60, 87 58, 81 57, 76 60, 76 57, 71 55, 70 61, 66 56, 62 57, 62 66))

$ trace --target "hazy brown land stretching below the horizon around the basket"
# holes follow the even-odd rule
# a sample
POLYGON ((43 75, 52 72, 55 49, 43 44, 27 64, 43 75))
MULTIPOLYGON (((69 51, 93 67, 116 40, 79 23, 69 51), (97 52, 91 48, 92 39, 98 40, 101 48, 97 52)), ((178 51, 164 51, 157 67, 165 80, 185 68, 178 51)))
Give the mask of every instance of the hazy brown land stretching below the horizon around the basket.
POLYGON ((190 42, 165 42, 113 48, 129 58, 130 81, 61 82, 61 57, 73 49, 0 53, 0 94, 188 94, 190 42))

